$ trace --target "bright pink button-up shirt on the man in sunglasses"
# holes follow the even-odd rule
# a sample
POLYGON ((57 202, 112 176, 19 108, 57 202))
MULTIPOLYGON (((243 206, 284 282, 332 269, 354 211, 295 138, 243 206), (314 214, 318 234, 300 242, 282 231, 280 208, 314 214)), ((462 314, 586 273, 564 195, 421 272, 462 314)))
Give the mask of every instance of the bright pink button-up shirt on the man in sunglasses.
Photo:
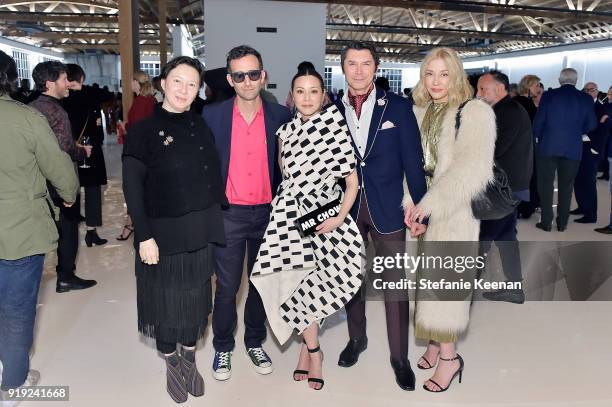
POLYGON ((263 105, 248 124, 234 102, 232 141, 225 195, 230 204, 261 205, 272 202, 268 146, 263 105))

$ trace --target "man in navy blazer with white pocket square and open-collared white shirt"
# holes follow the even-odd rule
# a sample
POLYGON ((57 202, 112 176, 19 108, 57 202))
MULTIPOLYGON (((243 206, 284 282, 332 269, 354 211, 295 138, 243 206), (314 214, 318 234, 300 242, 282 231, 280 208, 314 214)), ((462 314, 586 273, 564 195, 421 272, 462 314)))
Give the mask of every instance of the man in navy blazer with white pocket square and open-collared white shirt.
MULTIPOLYGON (((415 204, 427 189, 419 128, 408 100, 374 85, 379 59, 373 47, 352 42, 342 51, 341 63, 349 89, 336 104, 353 138, 359 176, 359 194, 351 216, 364 241, 370 235, 377 246, 377 255, 393 255, 386 253, 392 242, 406 239, 402 209, 404 179, 415 204)), ((420 224, 411 228, 413 234, 425 230, 420 224)), ((383 275, 383 279, 402 277, 397 272, 383 275)), ((387 294, 385 311, 391 366, 397 384, 404 390, 414 390, 414 373, 408 362, 408 301, 407 298, 392 299, 387 294)), ((350 367, 367 347, 362 293, 346 305, 346 312, 349 342, 340 354, 338 365, 350 367)))

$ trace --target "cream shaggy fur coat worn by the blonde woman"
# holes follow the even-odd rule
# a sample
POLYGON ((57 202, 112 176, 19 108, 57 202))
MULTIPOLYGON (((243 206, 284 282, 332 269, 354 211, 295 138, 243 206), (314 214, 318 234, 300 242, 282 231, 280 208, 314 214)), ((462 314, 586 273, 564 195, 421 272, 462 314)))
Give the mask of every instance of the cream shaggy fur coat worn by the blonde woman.
MULTIPOLYGON (((414 107, 419 128, 426 110, 427 107, 414 107)), ((471 201, 493 179, 495 113, 480 100, 468 102, 462 110, 455 141, 456 113, 456 108, 449 108, 444 116, 432 185, 418 203, 429 216, 425 241, 478 241, 480 221, 472 214, 471 201)), ((412 204, 409 194, 403 204, 412 204)), ((418 301, 416 335, 454 342, 467 328, 469 310, 469 300, 418 301)))

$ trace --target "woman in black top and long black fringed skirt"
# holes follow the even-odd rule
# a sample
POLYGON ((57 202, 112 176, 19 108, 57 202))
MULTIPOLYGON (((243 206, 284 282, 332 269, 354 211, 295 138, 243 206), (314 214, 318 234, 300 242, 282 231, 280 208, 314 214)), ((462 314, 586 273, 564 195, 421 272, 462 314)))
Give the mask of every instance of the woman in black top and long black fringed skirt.
POLYGON ((225 243, 219 157, 204 119, 189 112, 203 73, 189 57, 164 66, 164 101, 130 129, 123 152, 123 190, 136 231, 138 330, 164 355, 177 403, 204 394, 195 346, 212 309, 213 246, 225 243))

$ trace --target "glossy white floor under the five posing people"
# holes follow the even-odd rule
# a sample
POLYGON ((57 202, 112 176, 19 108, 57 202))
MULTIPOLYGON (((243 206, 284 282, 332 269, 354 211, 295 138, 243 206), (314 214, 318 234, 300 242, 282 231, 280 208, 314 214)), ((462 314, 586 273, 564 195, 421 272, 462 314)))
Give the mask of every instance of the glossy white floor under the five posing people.
MULTIPOLYGON (((99 230, 109 244, 87 248, 83 243, 78 274, 98 285, 82 292, 55 293, 53 256, 48 256, 32 367, 42 373, 41 385, 70 386, 69 406, 170 406, 165 391, 164 363, 151 342, 136 330, 132 240, 114 240, 123 216, 119 151, 106 146, 110 182, 105 192, 104 222, 99 230)), ((608 218, 609 193, 600 181, 600 219, 608 218)), ((546 234, 535 220, 521 221, 520 239, 604 240, 593 225, 571 223, 564 234, 546 234)), ((244 284, 243 284, 244 286, 244 284)), ((244 292, 240 294, 242 315, 244 292)), ((227 382, 210 373, 210 329, 197 353, 206 394, 186 405, 215 406, 612 406, 612 324, 609 302, 528 302, 522 306, 475 302, 469 333, 459 343, 466 368, 462 384, 444 394, 420 388, 400 390, 388 362, 383 304, 369 302, 368 350, 357 365, 344 369, 337 357, 347 340, 344 315, 327 321, 321 335, 325 352, 323 391, 295 383, 291 372, 297 343, 279 349, 272 337, 265 347, 275 371, 260 376, 250 367, 242 346, 236 348, 234 372, 227 382)), ((411 327, 412 331, 412 327, 411 327)), ((236 334, 241 344, 242 319, 236 334)), ((424 344, 410 343, 413 366, 424 344)), ((422 383, 429 372, 416 370, 422 383)), ((60 403, 24 403, 42 407, 60 403)))

